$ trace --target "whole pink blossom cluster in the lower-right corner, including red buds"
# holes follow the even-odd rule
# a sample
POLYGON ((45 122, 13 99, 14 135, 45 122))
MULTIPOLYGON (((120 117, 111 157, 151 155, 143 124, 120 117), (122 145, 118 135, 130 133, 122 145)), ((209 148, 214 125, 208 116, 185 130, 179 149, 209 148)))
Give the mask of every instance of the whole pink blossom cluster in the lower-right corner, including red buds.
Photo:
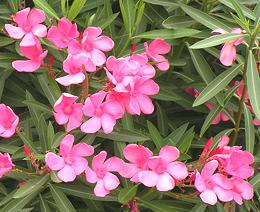
POLYGON ((201 172, 196 172, 195 187, 203 202, 214 205, 217 199, 223 202, 234 200, 241 205, 243 200, 253 198, 253 187, 246 180, 253 176, 254 157, 241 150, 240 146, 227 146, 229 138, 221 137, 216 150, 210 151, 212 139, 205 146, 207 162, 201 172))

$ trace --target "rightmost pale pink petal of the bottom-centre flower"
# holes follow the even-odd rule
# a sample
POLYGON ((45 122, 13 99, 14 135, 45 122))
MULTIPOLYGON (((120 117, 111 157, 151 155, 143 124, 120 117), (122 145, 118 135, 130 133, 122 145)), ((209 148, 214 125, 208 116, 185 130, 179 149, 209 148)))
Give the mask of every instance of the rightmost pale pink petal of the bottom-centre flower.
POLYGON ((167 166, 167 171, 174 179, 183 180, 188 176, 188 169, 184 163, 172 162, 167 166))

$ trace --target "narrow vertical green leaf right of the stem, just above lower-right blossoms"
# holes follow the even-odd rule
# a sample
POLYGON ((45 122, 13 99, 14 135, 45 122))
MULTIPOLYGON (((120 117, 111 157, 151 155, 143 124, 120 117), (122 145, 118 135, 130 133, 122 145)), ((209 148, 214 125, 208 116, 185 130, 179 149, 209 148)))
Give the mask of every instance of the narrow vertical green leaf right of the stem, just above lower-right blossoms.
POLYGON ((254 153, 255 144, 255 128, 253 124, 252 114, 244 104, 244 114, 245 114, 245 134, 246 134, 246 150, 250 153, 254 153))

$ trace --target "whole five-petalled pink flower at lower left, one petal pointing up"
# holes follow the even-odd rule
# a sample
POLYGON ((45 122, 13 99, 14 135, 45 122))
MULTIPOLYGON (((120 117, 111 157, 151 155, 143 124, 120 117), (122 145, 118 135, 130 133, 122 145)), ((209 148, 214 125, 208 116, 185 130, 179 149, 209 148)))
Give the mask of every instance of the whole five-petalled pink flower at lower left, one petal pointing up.
POLYGON ((73 146, 74 136, 66 135, 60 144, 60 155, 49 152, 45 155, 47 166, 58 171, 58 177, 64 182, 72 182, 76 176, 83 173, 88 167, 88 161, 84 158, 94 153, 94 148, 86 143, 78 143, 73 146))

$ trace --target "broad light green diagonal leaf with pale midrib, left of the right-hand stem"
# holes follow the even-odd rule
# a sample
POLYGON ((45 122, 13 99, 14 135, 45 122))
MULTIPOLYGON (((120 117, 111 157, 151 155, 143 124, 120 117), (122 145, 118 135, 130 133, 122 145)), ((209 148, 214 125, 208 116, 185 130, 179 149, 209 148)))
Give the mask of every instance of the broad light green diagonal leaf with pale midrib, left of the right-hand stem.
POLYGON ((224 90, 230 81, 238 75, 241 70, 241 66, 242 64, 235 65, 218 75, 196 98, 193 103, 193 107, 205 103, 209 99, 216 96, 216 94, 218 94, 220 91, 224 90))

